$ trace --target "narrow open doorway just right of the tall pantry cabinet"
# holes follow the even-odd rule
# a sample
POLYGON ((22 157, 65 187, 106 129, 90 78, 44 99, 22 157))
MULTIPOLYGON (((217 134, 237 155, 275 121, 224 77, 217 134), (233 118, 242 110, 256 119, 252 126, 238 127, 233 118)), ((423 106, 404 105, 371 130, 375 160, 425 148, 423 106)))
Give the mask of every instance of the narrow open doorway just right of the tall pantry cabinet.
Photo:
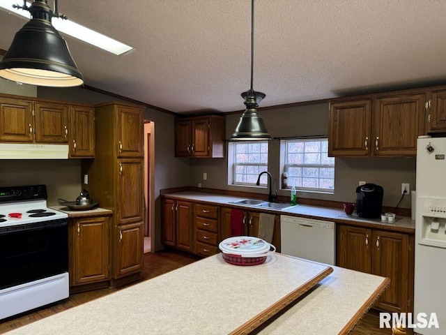
POLYGON ((155 237, 155 123, 144 120, 144 253, 155 237))

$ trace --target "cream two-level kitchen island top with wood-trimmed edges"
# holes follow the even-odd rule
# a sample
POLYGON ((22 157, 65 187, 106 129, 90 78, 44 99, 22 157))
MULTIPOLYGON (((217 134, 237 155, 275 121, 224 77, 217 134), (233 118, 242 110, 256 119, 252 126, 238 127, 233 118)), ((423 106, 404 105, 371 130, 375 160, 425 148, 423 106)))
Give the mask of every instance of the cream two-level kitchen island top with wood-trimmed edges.
POLYGON ((218 254, 7 334, 347 334, 388 282, 279 253, 251 267, 218 254))

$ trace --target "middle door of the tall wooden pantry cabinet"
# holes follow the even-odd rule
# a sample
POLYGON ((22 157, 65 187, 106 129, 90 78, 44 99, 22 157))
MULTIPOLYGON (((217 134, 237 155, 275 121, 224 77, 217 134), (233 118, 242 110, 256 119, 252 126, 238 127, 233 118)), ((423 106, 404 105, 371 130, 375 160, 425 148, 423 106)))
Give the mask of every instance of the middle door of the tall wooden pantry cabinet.
POLYGON ((144 161, 120 159, 117 164, 116 216, 118 224, 144 221, 144 161))

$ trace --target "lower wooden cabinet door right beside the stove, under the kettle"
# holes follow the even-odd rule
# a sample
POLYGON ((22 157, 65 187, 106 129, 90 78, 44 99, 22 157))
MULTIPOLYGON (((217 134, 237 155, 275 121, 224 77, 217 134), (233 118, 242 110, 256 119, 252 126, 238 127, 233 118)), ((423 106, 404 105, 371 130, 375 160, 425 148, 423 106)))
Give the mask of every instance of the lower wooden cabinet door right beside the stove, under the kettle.
POLYGON ((109 217, 77 218, 72 222, 70 284, 109 279, 109 217))

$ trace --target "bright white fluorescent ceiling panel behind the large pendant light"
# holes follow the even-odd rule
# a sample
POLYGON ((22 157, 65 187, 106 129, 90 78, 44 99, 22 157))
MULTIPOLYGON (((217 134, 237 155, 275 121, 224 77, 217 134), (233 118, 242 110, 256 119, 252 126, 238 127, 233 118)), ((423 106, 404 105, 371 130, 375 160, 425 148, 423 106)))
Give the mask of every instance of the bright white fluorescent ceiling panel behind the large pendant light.
MULTIPOLYGON (((0 0, 0 8, 6 10, 10 14, 18 15, 26 18, 26 20, 29 20, 31 15, 29 14, 28 10, 13 8, 13 4, 17 4, 19 2, 20 1, 17 0, 0 0)), ((22 6, 22 4, 23 3, 20 3, 20 6, 22 6)), ((27 3, 27 6, 31 6, 31 3, 27 3)), ((71 20, 62 20, 54 17, 52 23, 54 28, 56 28, 58 31, 94 45, 95 47, 100 47, 102 50, 112 52, 116 55, 124 54, 125 52, 133 50, 133 47, 130 47, 130 45, 126 45, 118 40, 109 38, 108 36, 98 33, 98 31, 86 28, 71 20)))

